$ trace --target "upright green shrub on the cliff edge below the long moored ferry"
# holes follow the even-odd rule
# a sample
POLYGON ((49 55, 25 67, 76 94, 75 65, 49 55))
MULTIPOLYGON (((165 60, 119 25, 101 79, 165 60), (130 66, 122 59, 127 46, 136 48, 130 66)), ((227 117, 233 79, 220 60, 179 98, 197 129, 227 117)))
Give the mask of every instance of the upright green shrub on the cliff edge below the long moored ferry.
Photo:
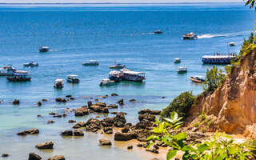
POLYGON ((216 66, 206 71, 206 81, 202 83, 203 90, 207 92, 214 92, 222 82, 226 79, 226 75, 222 70, 218 70, 216 66))

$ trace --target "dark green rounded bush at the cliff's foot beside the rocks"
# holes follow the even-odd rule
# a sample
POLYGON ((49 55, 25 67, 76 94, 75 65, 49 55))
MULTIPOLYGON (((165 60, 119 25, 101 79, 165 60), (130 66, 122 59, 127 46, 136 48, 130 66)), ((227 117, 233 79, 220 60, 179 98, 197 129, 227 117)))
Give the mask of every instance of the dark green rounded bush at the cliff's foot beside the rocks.
POLYGON ((177 112, 178 116, 186 118, 191 106, 194 105, 196 96, 191 91, 186 91, 174 98, 170 105, 162 110, 161 118, 169 118, 172 112, 177 112))

